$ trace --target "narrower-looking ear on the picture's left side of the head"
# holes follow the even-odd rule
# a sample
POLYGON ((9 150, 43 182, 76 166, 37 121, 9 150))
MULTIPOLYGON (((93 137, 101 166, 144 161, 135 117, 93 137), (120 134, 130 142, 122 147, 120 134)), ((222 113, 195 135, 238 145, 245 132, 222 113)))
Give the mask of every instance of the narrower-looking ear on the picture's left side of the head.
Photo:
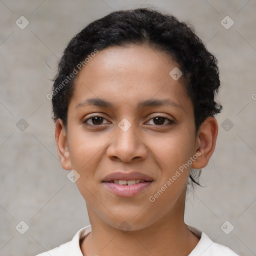
POLYGON ((55 124, 55 141, 58 158, 63 169, 71 170, 70 155, 67 146, 67 134, 61 119, 57 119, 55 124))

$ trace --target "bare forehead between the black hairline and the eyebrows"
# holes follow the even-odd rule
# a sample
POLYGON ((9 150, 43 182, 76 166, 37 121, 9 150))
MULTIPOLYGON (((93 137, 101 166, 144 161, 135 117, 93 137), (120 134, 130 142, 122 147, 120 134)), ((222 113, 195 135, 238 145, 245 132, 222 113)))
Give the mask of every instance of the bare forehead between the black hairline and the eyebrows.
POLYGON ((174 80, 169 74, 177 67, 168 54, 148 46, 108 47, 81 69, 72 98, 76 103, 91 97, 105 98, 116 101, 116 106, 118 102, 135 106, 150 98, 170 98, 179 104, 188 97, 182 76, 174 80))

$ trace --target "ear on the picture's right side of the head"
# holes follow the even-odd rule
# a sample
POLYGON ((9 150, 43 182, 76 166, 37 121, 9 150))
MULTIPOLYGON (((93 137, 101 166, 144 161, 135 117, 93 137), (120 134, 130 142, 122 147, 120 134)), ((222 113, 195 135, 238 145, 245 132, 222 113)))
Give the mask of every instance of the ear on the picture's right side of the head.
POLYGON ((201 169, 205 167, 213 153, 218 133, 217 120, 209 116, 200 125, 196 135, 197 159, 193 161, 192 168, 201 169), (199 154, 200 152, 200 154, 199 154))

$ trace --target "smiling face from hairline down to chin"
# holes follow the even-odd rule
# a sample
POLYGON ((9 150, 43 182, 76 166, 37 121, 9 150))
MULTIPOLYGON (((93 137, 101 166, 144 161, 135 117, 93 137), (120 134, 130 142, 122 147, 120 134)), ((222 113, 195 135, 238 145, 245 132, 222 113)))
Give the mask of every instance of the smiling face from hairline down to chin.
POLYGON ((137 230, 164 216, 183 216, 203 136, 195 133, 182 76, 169 75, 174 67, 170 56, 148 46, 115 46, 99 51, 76 77, 60 158, 63 168, 79 174, 76 184, 90 218, 117 228, 125 221, 137 230), (121 173, 106 182, 114 172, 121 173))

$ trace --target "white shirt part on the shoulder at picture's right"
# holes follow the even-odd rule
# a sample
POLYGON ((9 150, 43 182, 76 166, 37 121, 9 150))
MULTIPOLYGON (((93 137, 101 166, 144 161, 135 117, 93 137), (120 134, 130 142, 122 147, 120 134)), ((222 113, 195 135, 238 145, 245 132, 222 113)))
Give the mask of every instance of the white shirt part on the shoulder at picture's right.
POLYGON ((227 246, 213 242, 204 232, 189 226, 196 236, 200 235, 200 240, 188 256, 239 256, 227 246))

